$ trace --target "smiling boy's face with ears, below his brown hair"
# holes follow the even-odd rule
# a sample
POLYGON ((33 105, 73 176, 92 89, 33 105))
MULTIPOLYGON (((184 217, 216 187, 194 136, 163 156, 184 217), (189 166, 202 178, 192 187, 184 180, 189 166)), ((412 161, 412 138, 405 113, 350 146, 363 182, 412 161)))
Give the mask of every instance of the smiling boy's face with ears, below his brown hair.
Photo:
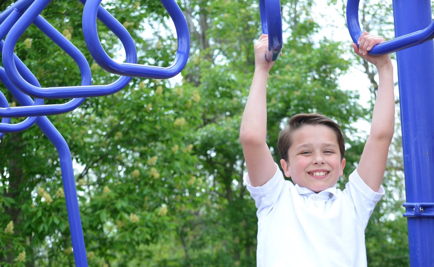
POLYGON ((335 186, 345 167, 335 132, 325 125, 304 125, 292 141, 288 162, 280 160, 286 177, 316 193, 335 186))

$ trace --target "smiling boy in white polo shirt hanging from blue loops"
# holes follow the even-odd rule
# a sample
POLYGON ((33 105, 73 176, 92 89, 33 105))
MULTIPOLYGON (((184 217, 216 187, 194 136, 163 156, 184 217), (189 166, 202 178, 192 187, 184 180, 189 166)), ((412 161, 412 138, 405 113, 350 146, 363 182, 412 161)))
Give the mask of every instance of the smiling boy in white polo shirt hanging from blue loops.
POLYGON ((363 33, 354 52, 378 69, 372 125, 357 169, 343 191, 335 187, 345 167, 342 132, 326 116, 298 114, 279 133, 280 165, 266 144, 266 84, 273 62, 268 39, 255 44, 255 73, 240 128, 247 188, 258 217, 257 266, 366 267, 365 228, 384 194, 381 181, 395 129, 393 67, 389 55, 367 51, 384 42, 363 33))

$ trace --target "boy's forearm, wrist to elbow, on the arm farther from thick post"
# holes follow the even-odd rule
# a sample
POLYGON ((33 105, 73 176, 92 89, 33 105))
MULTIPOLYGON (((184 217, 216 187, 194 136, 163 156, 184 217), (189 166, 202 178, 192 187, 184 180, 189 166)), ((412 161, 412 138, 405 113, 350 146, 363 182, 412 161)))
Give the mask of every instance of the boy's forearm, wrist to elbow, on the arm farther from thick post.
POLYGON ((266 86, 268 71, 255 69, 246 107, 241 121, 241 142, 265 142, 266 138, 266 86))

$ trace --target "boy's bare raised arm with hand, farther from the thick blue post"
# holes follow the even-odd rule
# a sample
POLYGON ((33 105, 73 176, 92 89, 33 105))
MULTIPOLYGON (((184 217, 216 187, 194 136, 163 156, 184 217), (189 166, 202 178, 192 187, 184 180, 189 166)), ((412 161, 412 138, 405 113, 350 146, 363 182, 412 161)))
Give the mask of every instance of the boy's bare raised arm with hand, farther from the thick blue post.
POLYGON ((263 34, 254 46, 255 73, 250 87, 240 128, 240 142, 243 146, 250 185, 262 186, 276 172, 276 165, 266 144, 266 87, 268 73, 274 62, 265 59, 268 50, 268 36, 263 34))

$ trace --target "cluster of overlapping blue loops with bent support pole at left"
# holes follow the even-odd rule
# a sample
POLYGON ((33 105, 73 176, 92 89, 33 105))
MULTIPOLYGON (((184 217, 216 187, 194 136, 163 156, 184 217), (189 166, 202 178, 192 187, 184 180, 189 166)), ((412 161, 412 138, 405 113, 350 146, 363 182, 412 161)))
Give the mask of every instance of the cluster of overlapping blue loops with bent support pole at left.
POLYGON ((132 76, 154 79, 168 79, 176 76, 187 63, 190 36, 187 22, 176 1, 161 0, 175 24, 178 36, 177 53, 174 62, 167 68, 140 65, 137 64, 134 40, 122 24, 100 5, 101 0, 80 0, 84 4, 82 16, 82 24, 86 25, 83 27, 84 38, 92 57, 106 71, 121 75, 109 85, 91 85, 91 69, 83 54, 39 15, 49 2, 50 0, 18 0, 0 13, 0 49, 2 49, 4 65, 4 69, 0 67, 0 81, 21 105, 9 107, 6 97, 0 92, 0 117, 2 118, 0 138, 5 132, 23 131, 36 123, 56 147, 62 170, 74 260, 76 266, 85 267, 87 258, 71 153, 65 139, 46 118, 46 115, 72 111, 82 104, 85 97, 106 96, 118 92, 128 85, 132 76), (115 63, 102 49, 96 30, 97 18, 121 40, 125 48, 125 63, 115 63), (17 40, 32 23, 74 59, 81 72, 80 86, 41 88, 33 73, 13 53, 17 40), (3 41, 5 36, 6 39, 3 41), (35 99, 33 100, 30 96, 35 99), (61 105, 44 105, 43 102, 43 99, 64 98, 72 98, 72 100, 61 105), (28 118, 17 124, 9 124, 10 118, 16 117, 28 118))

